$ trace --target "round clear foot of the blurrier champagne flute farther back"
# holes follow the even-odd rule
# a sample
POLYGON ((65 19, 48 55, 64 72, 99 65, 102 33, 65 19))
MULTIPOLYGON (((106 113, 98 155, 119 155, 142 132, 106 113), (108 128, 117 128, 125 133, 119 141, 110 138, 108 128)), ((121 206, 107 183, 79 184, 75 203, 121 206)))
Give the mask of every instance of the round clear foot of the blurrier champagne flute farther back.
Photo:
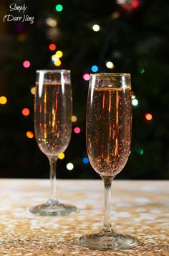
POLYGON ((46 204, 31 207, 29 211, 39 216, 64 216, 77 213, 79 209, 75 206, 60 204, 57 200, 49 199, 46 204))

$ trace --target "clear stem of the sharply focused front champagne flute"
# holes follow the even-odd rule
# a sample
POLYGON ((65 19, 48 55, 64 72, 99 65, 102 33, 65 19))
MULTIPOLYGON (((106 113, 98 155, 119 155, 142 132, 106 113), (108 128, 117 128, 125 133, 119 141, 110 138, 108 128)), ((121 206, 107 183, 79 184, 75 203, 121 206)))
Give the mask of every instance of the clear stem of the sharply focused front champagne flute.
POLYGON ((111 185, 112 179, 104 179, 105 189, 105 206, 104 206, 104 223, 102 232, 112 232, 112 221, 110 214, 110 202, 111 202, 111 185))

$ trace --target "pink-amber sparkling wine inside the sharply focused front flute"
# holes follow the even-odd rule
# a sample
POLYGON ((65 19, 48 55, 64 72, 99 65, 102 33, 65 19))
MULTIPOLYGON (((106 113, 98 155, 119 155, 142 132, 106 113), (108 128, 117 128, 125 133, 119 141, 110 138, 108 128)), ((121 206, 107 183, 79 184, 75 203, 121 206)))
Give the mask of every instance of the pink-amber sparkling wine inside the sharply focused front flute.
POLYGON ((131 91, 92 90, 87 101, 87 153, 97 173, 112 177, 120 173, 130 154, 131 91))

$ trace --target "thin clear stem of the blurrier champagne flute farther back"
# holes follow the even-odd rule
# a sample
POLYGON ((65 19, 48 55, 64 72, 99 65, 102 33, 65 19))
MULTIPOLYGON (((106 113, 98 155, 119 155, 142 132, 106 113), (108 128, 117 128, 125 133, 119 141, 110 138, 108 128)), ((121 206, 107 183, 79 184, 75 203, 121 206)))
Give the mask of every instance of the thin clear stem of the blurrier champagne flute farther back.
POLYGON ((57 200, 57 190, 56 190, 56 163, 57 157, 49 157, 50 163, 50 183, 51 183, 51 195, 50 200, 57 200))

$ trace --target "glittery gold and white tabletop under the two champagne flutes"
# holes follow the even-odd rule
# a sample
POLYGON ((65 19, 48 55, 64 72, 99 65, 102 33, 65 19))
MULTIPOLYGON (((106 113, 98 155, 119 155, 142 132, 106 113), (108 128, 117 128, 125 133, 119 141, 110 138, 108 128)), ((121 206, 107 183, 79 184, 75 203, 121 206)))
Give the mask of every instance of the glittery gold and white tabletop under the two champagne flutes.
POLYGON ((1 179, 0 255, 169 255, 169 182, 115 180, 112 222, 115 231, 132 234, 132 250, 97 251, 81 247, 82 234, 102 227, 102 180, 57 180, 60 201, 78 214, 36 216, 29 206, 47 201, 49 180, 1 179))

